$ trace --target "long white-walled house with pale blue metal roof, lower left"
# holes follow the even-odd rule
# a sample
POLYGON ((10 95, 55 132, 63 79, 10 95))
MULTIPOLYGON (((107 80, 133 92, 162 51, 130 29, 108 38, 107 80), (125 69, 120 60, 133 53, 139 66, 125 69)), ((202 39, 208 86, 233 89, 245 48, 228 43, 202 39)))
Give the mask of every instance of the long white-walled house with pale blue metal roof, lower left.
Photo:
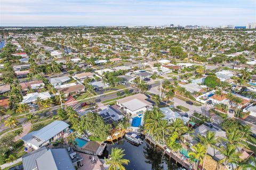
POLYGON ((24 141, 26 147, 37 150, 51 141, 62 137, 68 130, 68 127, 69 124, 63 121, 54 121, 38 131, 28 133, 21 140, 24 141))

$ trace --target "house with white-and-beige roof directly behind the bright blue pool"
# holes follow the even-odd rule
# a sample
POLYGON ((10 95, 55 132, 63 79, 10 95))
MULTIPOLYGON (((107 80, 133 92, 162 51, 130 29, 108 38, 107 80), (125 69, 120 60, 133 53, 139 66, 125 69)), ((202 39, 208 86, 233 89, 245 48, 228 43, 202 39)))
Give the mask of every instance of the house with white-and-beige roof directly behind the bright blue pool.
POLYGON ((136 115, 146 112, 153 104, 147 101, 148 97, 144 94, 136 94, 116 100, 116 105, 121 107, 125 113, 136 115))

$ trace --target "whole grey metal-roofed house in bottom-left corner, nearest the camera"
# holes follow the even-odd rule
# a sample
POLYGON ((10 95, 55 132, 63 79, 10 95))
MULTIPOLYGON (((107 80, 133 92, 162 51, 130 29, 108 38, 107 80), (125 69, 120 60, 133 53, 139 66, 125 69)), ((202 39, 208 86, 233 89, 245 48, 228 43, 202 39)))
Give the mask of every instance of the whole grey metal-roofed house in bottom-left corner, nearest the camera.
POLYGON ((73 149, 42 147, 22 156, 24 170, 74 170, 83 158, 73 149), (74 158, 73 155, 76 155, 74 158), (73 158, 73 159, 72 159, 73 158))

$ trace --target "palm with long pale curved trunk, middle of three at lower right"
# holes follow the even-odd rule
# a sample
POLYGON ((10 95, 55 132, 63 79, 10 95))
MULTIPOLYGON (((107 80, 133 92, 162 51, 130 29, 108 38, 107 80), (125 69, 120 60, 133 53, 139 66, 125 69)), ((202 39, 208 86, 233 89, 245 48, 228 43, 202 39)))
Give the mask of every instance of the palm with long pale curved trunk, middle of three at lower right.
POLYGON ((204 156, 204 162, 203 162, 203 168, 206 160, 206 154, 209 147, 216 148, 215 145, 218 143, 218 138, 215 137, 215 133, 212 131, 207 131, 206 136, 198 135, 198 139, 200 142, 203 143, 204 147, 206 148, 205 156, 204 156))

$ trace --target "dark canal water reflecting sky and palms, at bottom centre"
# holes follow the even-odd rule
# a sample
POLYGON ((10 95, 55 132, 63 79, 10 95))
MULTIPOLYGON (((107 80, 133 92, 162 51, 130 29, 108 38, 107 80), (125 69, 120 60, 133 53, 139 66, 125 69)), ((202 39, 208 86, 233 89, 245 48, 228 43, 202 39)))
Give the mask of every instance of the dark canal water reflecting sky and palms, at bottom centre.
POLYGON ((181 165, 176 164, 175 160, 167 155, 163 156, 161 149, 150 146, 144 139, 140 146, 132 145, 126 139, 118 140, 113 144, 109 143, 100 158, 107 158, 111 152, 111 148, 116 147, 125 149, 124 158, 130 160, 128 165, 124 165, 126 170, 181 169, 181 165))

